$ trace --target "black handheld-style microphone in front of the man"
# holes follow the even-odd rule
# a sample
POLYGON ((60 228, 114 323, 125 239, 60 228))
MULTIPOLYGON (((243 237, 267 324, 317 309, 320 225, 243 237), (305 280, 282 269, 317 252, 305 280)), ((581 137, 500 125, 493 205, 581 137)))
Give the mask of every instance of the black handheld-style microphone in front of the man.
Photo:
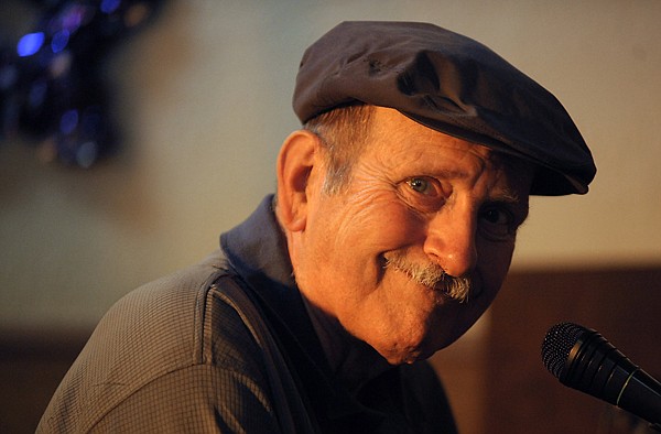
POLYGON ((561 383, 661 428, 661 383, 597 332, 572 323, 554 325, 542 343, 542 361, 561 383))

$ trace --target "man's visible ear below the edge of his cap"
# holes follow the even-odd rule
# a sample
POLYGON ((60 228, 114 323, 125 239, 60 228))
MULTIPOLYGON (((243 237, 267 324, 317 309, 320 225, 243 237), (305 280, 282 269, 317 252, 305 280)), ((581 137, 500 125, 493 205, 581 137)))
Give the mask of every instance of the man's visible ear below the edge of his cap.
POLYGON ((290 231, 305 229, 313 169, 321 162, 319 138, 306 130, 292 132, 278 155, 278 211, 281 224, 290 231))

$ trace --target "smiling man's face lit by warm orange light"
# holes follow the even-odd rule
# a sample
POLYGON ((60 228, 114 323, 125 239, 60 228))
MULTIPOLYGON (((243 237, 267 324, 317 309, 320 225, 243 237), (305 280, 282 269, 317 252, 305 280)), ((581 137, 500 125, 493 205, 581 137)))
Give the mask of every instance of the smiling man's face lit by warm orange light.
POLYGON ((377 108, 372 121, 347 188, 328 195, 323 176, 310 177, 294 272, 348 333, 391 364, 412 362, 456 340, 496 296, 532 169, 395 110, 377 108), (467 300, 421 283, 411 264, 469 279, 467 300))

